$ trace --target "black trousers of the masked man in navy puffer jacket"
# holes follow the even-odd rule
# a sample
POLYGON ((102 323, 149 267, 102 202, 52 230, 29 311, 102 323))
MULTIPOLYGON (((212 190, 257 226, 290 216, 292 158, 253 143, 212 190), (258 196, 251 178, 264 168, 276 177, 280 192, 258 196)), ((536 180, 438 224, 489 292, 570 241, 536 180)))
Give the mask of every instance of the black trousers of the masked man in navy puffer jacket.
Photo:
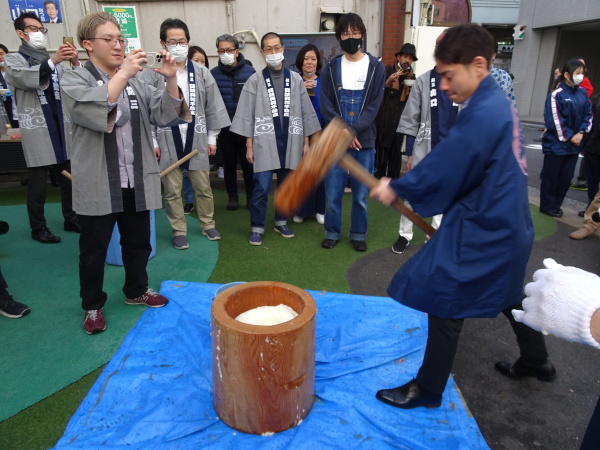
POLYGON ((252 197, 254 189, 254 168, 246 159, 246 138, 231 131, 222 130, 219 133, 219 147, 223 152, 223 172, 225 175, 225 189, 230 199, 237 199, 237 163, 242 166, 246 197, 252 197))

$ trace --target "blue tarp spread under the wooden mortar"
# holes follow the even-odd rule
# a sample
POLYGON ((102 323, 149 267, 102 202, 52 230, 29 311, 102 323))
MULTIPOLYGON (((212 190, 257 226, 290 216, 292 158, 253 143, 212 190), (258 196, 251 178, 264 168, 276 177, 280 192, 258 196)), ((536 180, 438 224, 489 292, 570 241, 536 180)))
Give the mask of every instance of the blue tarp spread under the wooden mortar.
POLYGON ((441 408, 405 411, 375 399, 416 374, 423 313, 387 297, 317 291, 309 291, 318 309, 312 411, 273 436, 229 428, 212 404, 210 307, 219 286, 163 282, 170 303, 143 314, 55 448, 488 448, 452 378, 441 408))

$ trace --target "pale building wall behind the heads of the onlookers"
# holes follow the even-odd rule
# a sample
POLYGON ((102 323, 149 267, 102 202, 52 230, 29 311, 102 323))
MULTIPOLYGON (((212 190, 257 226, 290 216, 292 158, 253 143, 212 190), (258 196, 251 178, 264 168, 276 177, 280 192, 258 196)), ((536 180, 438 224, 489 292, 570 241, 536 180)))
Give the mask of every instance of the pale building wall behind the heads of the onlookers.
MULTIPOLYGON (((403 3, 404 0, 388 0, 403 3)), ((368 32, 367 50, 381 54, 382 0, 164 0, 97 2, 92 0, 61 0, 63 24, 49 25, 49 49, 62 43, 62 36, 75 36, 78 20, 86 12, 100 10, 102 6, 135 6, 142 46, 158 51, 158 30, 167 17, 179 18, 190 28, 192 44, 203 47, 209 55, 211 67, 217 63, 215 38, 221 34, 254 30, 258 38, 268 31, 280 33, 317 33, 320 31, 321 9, 359 14, 368 32)), ((9 50, 17 50, 20 42, 10 20, 8 2, 0 1, 0 43, 9 50)), ((244 56, 257 66, 264 66, 259 43, 252 33, 240 33, 246 41, 244 56)), ((83 53, 82 53, 83 56, 83 53)))

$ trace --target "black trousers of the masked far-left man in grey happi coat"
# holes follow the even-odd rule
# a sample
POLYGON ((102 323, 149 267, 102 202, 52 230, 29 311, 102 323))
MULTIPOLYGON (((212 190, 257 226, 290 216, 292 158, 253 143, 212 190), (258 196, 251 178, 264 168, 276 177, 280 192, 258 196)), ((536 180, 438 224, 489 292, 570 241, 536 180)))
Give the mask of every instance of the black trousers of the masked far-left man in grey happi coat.
MULTIPOLYGON (((44 205, 46 203, 46 186, 48 185, 48 169, 50 167, 52 166, 30 167, 28 169, 27 213, 29 214, 29 226, 32 230, 39 230, 46 226, 44 205)), ((71 171, 71 163, 69 161, 62 164, 55 164, 54 167, 59 174, 63 170, 71 171)), ((59 175, 58 179, 63 217, 67 221, 73 221, 77 218, 77 215, 73 211, 71 180, 62 175, 59 175)))

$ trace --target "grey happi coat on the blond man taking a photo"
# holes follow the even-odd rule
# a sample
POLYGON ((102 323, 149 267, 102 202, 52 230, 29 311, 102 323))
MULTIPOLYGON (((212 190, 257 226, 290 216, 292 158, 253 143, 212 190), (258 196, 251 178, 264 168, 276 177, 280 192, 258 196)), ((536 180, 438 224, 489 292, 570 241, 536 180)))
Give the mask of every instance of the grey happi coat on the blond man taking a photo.
MULTIPOLYGON (((152 145, 152 125, 176 125, 190 122, 192 116, 185 102, 178 115, 166 89, 157 90, 141 80, 132 78, 129 85, 137 97, 140 114, 142 146, 142 183, 135 186, 143 196, 136 195, 138 211, 159 209, 160 176, 152 145)), ((102 216, 121 212, 118 201, 112 201, 110 185, 120 190, 119 173, 108 173, 104 133, 110 133, 117 117, 117 107, 108 112, 108 85, 98 85, 84 68, 65 73, 62 83, 63 107, 71 117, 71 170, 73 175, 73 209, 77 214, 102 216), (116 186, 118 185, 118 186, 116 186)), ((134 165, 140 164, 135 161, 134 165)), ((137 180, 136 180, 137 183, 137 180)), ((115 189, 116 188, 116 189, 115 189)))

